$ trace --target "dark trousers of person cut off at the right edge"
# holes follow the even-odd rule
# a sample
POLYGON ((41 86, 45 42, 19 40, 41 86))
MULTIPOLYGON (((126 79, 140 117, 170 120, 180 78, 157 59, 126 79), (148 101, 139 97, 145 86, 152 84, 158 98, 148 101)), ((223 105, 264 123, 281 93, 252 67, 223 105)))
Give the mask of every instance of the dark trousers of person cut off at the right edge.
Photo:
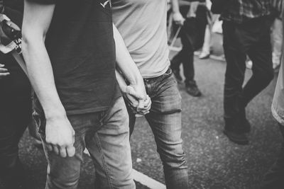
MULTIPOLYGON (((284 126, 279 125, 282 137, 284 139, 284 126)), ((280 154, 277 161, 271 169, 266 173, 263 180, 263 185, 261 189, 282 189, 284 188, 284 142, 281 147, 280 154)))

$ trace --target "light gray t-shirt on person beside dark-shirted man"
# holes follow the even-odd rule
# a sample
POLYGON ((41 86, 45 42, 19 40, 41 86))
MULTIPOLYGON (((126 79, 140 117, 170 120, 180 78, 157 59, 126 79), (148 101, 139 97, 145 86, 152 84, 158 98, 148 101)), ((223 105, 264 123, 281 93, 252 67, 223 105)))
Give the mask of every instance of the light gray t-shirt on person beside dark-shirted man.
POLYGON ((112 18, 143 78, 170 66, 166 31, 167 0, 112 0, 112 18))

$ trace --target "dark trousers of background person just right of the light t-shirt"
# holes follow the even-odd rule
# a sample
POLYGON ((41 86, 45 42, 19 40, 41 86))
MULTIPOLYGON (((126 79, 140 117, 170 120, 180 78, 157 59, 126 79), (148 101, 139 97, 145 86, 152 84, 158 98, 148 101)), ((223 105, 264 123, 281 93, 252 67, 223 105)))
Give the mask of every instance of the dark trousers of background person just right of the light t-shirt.
MULTIPOLYGON (((180 11, 186 18, 189 6, 182 6, 180 11)), ((182 50, 171 61, 171 68, 179 71, 180 64, 183 66, 185 84, 195 82, 194 52, 203 45, 204 33, 207 25, 207 9, 204 6, 197 8, 196 18, 186 18, 180 30, 182 50)))

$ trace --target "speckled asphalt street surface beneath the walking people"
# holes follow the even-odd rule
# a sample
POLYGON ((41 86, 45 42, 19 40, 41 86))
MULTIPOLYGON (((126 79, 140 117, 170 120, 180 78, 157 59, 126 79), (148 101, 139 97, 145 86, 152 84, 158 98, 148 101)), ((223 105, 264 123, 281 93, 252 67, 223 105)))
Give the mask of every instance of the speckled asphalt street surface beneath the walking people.
MULTIPOLYGON (((252 125, 250 144, 239 146, 222 133, 225 65, 225 62, 195 58, 196 80, 203 93, 200 98, 189 96, 185 86, 179 85, 182 96, 182 139, 191 188, 257 188, 280 150, 282 139, 271 115, 276 75, 270 86, 247 108, 247 117, 252 125)), ((247 70, 246 79, 250 76, 251 71, 247 70)), ((133 168, 165 183, 153 134, 144 118, 138 118, 136 122, 131 147, 133 168)), ((28 183, 31 183, 29 189, 44 188, 45 157, 43 151, 33 146, 28 132, 21 140, 20 156, 28 183)), ((94 170, 92 161, 84 156, 80 189, 89 188, 94 188, 94 170)), ((137 188, 146 187, 138 184, 137 188)))

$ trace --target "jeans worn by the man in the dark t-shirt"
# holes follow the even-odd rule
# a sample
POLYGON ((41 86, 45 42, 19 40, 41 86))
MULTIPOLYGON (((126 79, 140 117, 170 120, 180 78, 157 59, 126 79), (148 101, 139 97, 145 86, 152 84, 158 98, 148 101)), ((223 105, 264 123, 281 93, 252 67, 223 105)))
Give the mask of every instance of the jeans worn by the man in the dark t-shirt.
MULTIPOLYGON (((54 154, 53 151, 48 151, 46 147, 44 148, 48 161, 45 189, 77 188, 82 152, 85 147, 89 150, 94 162, 95 188, 135 188, 131 175, 129 117, 123 98, 118 98, 109 110, 84 115, 71 115, 68 116, 68 119, 75 130, 74 147, 76 154, 71 158, 62 158, 54 154)), ((40 126, 40 130, 43 130, 42 126, 40 126)), ((42 134, 45 144, 43 136, 42 134)))

